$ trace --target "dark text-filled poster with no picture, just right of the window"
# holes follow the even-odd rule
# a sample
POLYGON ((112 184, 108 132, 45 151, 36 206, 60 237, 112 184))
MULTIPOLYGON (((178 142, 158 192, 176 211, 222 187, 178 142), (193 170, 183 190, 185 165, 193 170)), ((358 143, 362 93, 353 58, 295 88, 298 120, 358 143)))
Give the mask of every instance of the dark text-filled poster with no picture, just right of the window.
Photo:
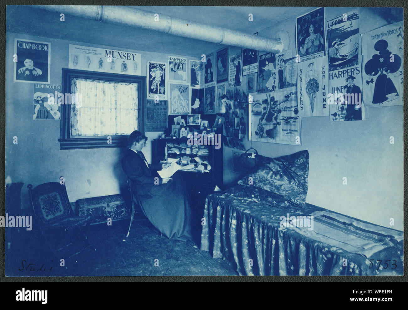
POLYGON ((167 101, 146 100, 146 121, 144 132, 164 131, 167 129, 167 101))

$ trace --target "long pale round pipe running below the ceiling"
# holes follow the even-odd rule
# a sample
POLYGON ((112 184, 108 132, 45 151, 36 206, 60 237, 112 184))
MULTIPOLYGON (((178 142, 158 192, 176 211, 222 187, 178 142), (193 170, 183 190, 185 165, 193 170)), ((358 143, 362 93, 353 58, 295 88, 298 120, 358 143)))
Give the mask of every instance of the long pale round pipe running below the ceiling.
POLYGON ((203 40, 212 43, 255 49, 262 52, 279 54, 283 50, 281 40, 264 38, 241 31, 205 25, 190 20, 171 17, 164 14, 155 16, 154 12, 133 7, 105 5, 35 5, 47 11, 111 22, 129 27, 140 27, 155 31, 203 40), (155 17, 158 21, 155 21, 155 17))

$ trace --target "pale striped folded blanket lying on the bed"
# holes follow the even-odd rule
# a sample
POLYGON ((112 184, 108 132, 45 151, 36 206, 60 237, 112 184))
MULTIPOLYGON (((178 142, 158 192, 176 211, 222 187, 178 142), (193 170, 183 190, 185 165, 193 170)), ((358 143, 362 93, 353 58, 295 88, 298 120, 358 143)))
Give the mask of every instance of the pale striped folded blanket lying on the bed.
POLYGON ((361 222, 330 211, 316 211, 311 216, 313 216, 312 230, 308 230, 308 227, 288 228, 302 236, 366 257, 393 247, 404 238, 402 231, 361 222))

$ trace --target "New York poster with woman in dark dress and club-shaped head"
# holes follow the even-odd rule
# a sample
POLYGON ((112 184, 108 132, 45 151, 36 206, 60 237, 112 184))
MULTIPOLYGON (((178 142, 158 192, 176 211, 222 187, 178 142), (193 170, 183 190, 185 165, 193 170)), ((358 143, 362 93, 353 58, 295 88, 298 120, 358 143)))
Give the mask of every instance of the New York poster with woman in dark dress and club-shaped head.
POLYGON ((361 34, 363 99, 369 107, 402 105, 404 94, 404 23, 361 34))

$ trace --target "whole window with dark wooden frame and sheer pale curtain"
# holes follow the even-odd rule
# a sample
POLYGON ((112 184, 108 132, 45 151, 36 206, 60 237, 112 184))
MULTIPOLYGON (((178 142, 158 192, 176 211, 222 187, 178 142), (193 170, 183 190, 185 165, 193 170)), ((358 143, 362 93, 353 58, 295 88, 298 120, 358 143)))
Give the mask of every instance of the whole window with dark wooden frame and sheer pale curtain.
POLYGON ((127 135, 143 128, 145 81, 142 76, 62 69, 60 149, 122 146, 127 135))

